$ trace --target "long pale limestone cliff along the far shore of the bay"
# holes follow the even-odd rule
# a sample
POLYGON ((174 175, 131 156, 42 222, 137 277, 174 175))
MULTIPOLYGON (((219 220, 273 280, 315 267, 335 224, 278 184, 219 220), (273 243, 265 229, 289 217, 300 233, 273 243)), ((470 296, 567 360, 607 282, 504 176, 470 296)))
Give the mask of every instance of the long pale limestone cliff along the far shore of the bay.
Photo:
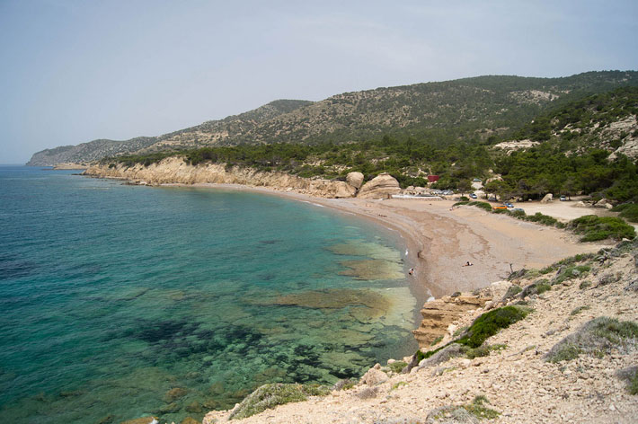
POLYGON ((269 187, 275 190, 295 190, 300 193, 323 198, 351 198, 357 189, 345 181, 308 180, 284 172, 261 172, 251 168, 234 166, 226 169, 224 164, 203 163, 191 165, 182 157, 167 157, 148 166, 137 163, 93 164, 84 175, 119 178, 140 184, 196 184, 224 183, 269 187))

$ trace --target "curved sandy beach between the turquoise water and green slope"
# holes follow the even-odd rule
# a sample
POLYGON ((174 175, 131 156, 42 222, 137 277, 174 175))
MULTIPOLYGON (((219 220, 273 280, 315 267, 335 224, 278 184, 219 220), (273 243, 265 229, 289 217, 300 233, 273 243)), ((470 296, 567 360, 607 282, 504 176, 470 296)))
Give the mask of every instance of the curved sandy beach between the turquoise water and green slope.
MULTIPOLYGON (((511 269, 543 268, 578 253, 597 252, 605 245, 578 243, 574 235, 563 230, 479 208, 451 210, 453 200, 323 199, 239 184, 199 183, 188 187, 250 190, 307 201, 392 228, 405 240, 408 265, 416 270, 410 277, 412 287, 424 299, 487 287, 507 278, 511 269), (473 266, 465 267, 466 261, 473 266)), ((587 212, 591 213, 590 209, 587 212)))

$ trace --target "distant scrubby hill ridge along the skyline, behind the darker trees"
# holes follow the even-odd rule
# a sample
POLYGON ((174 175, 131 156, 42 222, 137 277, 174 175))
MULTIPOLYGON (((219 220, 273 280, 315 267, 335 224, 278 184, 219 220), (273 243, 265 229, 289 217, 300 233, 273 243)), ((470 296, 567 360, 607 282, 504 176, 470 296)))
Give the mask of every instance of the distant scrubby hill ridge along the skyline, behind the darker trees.
POLYGON ((589 72, 561 78, 488 75, 441 83, 341 93, 321 102, 276 101, 226 119, 160 137, 94 140, 36 153, 27 164, 89 162, 111 155, 148 154, 201 146, 345 143, 416 137, 432 145, 506 137, 538 114, 621 86, 638 72, 589 72))

